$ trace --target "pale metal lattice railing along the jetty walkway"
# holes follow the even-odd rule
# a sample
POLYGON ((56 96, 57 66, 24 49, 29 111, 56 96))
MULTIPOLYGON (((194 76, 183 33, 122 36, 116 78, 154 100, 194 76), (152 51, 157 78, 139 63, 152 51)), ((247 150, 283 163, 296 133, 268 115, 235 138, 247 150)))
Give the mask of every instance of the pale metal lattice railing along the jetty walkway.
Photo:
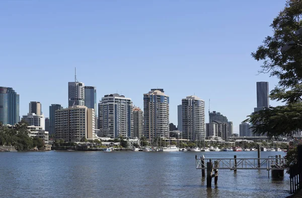
POLYGON ((284 170, 284 158, 224 158, 196 159, 196 169, 207 169, 207 162, 217 161, 217 169, 240 170, 284 170), (203 161, 203 163, 202 163, 203 161), (260 162, 258 164, 258 161, 260 162), (236 163, 235 163, 236 162, 236 163))

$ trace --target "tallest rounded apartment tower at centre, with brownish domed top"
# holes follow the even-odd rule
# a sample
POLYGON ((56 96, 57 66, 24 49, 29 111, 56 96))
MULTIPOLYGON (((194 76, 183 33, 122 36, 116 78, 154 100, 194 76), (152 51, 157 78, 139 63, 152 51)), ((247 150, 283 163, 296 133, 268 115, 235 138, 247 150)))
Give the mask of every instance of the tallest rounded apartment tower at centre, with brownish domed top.
POLYGON ((169 96, 163 90, 143 94, 144 137, 149 140, 168 138, 169 134, 169 96))

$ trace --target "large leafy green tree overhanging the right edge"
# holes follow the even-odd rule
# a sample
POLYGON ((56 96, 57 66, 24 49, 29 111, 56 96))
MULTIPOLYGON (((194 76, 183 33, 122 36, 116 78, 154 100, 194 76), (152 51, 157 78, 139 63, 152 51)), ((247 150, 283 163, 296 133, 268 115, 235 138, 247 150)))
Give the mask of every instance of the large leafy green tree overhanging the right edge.
POLYGON ((279 79, 270 98, 285 103, 260 110, 243 121, 251 122, 256 134, 292 136, 302 129, 302 30, 297 31, 302 28, 301 18, 302 1, 288 0, 270 25, 273 36, 267 36, 252 53, 254 59, 263 62, 259 73, 270 73, 279 79))

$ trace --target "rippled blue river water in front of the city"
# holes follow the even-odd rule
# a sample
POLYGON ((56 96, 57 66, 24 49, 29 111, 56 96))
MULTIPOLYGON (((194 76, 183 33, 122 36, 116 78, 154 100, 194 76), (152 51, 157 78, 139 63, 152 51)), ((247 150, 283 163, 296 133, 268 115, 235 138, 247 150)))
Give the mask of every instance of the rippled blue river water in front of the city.
MULTIPOLYGON (((0 152, 0 197, 286 197, 289 177, 219 170, 206 187, 195 155, 257 158, 257 152, 0 152)), ((261 152, 261 158, 284 152, 261 152)))

